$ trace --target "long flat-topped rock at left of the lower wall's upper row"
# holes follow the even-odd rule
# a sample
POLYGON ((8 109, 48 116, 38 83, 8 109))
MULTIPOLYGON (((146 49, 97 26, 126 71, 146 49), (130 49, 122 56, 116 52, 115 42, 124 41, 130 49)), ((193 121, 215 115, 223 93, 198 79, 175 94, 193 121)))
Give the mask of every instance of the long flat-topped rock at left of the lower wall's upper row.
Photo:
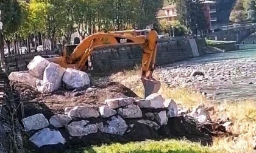
POLYGON ((94 107, 76 106, 68 112, 69 117, 98 118, 99 112, 94 107))

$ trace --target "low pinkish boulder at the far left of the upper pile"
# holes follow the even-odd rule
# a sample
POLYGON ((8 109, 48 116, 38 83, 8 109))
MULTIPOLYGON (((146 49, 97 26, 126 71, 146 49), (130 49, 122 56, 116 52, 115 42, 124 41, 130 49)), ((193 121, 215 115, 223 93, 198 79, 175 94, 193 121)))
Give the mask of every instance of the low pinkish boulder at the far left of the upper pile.
POLYGON ((36 87, 35 82, 37 78, 30 75, 27 71, 12 72, 8 78, 12 81, 19 81, 31 87, 36 87))

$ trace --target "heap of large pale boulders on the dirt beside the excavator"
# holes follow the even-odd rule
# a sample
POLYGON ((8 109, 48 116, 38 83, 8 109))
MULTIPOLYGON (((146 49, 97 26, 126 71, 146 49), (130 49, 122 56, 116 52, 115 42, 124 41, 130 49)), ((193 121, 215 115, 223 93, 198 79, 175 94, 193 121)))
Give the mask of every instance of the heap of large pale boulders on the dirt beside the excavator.
POLYGON ((41 93, 51 93, 60 87, 76 89, 90 84, 87 73, 80 70, 60 67, 41 56, 35 56, 27 65, 28 71, 12 72, 10 81, 19 81, 34 87, 41 93))

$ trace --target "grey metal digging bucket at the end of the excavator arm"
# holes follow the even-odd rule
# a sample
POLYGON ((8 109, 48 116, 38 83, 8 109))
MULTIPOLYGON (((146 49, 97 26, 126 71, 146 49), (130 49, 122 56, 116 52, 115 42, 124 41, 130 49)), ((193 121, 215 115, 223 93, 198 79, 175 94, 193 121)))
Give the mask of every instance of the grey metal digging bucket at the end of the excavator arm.
POLYGON ((161 87, 160 81, 157 80, 141 80, 144 86, 144 98, 151 94, 157 93, 161 87))

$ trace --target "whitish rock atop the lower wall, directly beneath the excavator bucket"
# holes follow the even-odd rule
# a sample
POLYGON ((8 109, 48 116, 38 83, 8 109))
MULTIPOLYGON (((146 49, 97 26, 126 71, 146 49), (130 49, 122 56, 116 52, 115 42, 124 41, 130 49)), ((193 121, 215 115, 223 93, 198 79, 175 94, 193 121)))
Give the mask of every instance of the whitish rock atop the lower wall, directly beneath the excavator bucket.
POLYGON ((163 97, 157 93, 149 95, 146 99, 137 100, 136 103, 140 108, 160 109, 164 108, 163 97))

